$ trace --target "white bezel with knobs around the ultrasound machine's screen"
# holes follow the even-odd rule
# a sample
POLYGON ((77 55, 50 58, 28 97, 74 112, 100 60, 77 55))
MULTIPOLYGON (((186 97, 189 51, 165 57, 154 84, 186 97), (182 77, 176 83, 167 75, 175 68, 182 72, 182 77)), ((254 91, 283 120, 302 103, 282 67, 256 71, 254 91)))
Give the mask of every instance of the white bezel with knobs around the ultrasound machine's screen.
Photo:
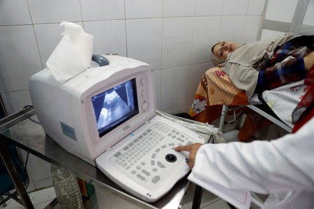
MULTIPOLYGON (((117 144, 122 138, 136 130, 140 125, 144 124, 144 121, 148 121, 150 118, 156 115, 156 101, 154 91, 154 79, 152 77, 151 68, 149 65, 140 65, 135 68, 126 68, 115 72, 112 75, 107 75, 107 78, 101 79, 100 82, 95 83, 89 87, 87 91, 84 91, 81 98, 81 113, 84 127, 84 135, 88 140, 89 146, 93 146, 96 150, 95 155, 107 150, 114 144, 117 144), (141 84, 140 79, 144 77, 147 79, 147 84, 141 84), (95 120, 94 107, 91 98, 94 95, 106 91, 119 83, 128 81, 129 79, 136 78, 137 92, 143 89, 147 89, 145 98, 137 96, 137 102, 139 104, 139 114, 136 117, 130 118, 130 120, 122 123, 116 129, 108 132, 103 137, 99 137, 98 128, 95 120), (142 102, 147 102, 150 108, 148 110, 142 109, 142 102)), ((92 81, 91 81, 92 82, 92 81)))

